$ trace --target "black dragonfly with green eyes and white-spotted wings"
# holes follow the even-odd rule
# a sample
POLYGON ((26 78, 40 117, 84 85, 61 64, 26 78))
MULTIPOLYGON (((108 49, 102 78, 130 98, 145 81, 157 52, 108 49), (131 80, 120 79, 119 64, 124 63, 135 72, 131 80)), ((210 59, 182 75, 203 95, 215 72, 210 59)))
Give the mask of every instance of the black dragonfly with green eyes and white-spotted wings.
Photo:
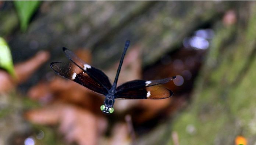
POLYGON ((105 99, 100 109, 105 114, 114 112, 115 99, 165 99, 171 97, 173 92, 159 84, 168 83, 176 76, 160 80, 132 80, 117 86, 118 76, 129 44, 130 41, 127 40, 113 84, 110 83, 105 73, 87 64, 65 47, 63 47, 63 51, 73 63, 51 62, 50 67, 58 75, 75 81, 94 93, 103 95, 105 99))

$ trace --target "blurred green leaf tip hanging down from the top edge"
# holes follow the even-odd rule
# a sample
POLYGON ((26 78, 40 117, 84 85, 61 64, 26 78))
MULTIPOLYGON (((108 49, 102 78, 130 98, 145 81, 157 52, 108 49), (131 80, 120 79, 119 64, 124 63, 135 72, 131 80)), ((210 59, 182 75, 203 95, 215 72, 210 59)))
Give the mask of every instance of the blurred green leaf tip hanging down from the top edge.
POLYGON ((28 28, 29 20, 36 11, 41 1, 13 1, 21 23, 21 31, 24 32, 28 28))

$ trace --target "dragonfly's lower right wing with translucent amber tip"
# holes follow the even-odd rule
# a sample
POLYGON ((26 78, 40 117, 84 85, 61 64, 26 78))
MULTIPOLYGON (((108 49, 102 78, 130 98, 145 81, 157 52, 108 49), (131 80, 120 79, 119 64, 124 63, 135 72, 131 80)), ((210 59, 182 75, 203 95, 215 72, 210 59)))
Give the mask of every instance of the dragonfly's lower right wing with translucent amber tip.
POLYGON ((168 88, 151 86, 119 91, 114 94, 114 97, 117 99, 165 99, 172 95, 173 92, 168 88))

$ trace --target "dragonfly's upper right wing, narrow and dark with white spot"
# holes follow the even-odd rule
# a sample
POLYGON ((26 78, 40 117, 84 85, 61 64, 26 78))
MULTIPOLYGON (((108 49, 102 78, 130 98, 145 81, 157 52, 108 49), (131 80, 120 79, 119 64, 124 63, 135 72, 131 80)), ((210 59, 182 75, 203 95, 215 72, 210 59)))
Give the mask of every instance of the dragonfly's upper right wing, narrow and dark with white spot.
POLYGON ((155 86, 158 84, 164 84, 168 83, 169 81, 175 79, 176 77, 168 77, 165 79, 161 80, 133 80, 133 81, 128 81, 124 84, 121 84, 120 86, 117 87, 117 92, 118 91, 124 91, 124 90, 129 90, 132 88, 144 88, 144 87, 150 87, 150 86, 155 86))

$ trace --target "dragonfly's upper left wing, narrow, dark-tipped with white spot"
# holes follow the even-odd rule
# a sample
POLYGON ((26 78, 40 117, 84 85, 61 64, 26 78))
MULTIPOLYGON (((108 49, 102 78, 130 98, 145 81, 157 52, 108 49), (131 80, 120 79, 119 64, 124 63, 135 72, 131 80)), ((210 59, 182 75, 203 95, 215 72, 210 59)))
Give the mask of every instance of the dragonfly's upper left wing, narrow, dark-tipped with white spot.
POLYGON ((101 70, 94 68, 93 66, 88 65, 82 59, 78 58, 72 51, 68 50, 67 48, 63 47, 63 51, 65 55, 74 62, 79 68, 84 70, 93 80, 101 84, 107 90, 110 90, 111 83, 109 78, 103 73, 101 70))

